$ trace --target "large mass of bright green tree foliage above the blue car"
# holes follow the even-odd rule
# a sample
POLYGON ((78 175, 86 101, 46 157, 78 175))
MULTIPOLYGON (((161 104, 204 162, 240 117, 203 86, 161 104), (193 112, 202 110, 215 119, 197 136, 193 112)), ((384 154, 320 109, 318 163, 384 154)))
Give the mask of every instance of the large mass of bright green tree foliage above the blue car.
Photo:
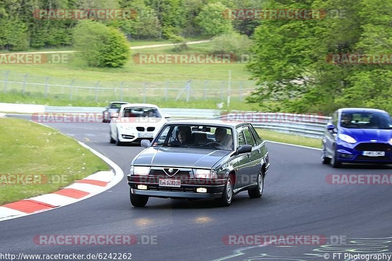
POLYGON ((248 65, 262 87, 248 97, 280 103, 287 112, 329 114, 339 107, 375 107, 392 112, 389 65, 332 64, 330 54, 392 53, 392 12, 383 0, 305 0, 266 8, 341 9, 343 17, 264 20, 255 30, 248 65))

